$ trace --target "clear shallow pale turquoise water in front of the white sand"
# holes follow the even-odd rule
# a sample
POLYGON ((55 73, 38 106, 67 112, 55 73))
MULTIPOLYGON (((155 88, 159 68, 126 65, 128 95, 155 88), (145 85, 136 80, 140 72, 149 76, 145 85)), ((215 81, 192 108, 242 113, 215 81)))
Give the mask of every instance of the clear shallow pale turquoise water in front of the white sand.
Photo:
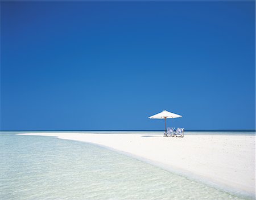
POLYGON ((0 134, 0 199, 246 199, 84 142, 0 134))

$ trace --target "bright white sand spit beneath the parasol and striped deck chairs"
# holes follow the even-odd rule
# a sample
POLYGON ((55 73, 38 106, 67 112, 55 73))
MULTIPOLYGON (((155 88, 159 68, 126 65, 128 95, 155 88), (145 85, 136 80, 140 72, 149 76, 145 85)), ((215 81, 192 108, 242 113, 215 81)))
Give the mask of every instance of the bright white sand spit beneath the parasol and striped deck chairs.
POLYGON ((171 172, 255 194, 255 137, 249 135, 26 133, 98 144, 171 172))

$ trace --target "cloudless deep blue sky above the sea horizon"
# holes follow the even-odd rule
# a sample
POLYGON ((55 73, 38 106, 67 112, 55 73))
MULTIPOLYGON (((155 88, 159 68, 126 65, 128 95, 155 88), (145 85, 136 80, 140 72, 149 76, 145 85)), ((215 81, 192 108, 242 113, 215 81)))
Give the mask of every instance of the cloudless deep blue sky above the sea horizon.
POLYGON ((1 1, 1 130, 255 129, 254 1, 1 1))

